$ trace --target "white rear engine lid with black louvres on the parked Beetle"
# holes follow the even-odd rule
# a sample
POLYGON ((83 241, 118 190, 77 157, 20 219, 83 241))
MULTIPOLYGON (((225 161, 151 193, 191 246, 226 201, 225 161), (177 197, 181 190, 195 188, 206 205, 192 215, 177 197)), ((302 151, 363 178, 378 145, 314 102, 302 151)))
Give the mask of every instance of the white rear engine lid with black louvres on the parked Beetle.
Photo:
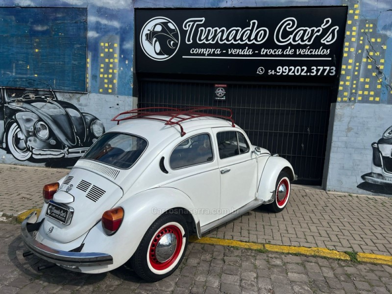
MULTIPOLYGON (((112 181, 79 168, 71 170, 57 193, 67 193, 74 199, 73 202, 66 204, 74 210, 69 225, 45 216, 43 229, 45 232, 51 231, 45 238, 59 243, 71 242, 85 234, 101 220, 102 214, 113 208, 123 196, 123 190, 112 181)), ((53 200, 56 200, 56 194, 53 200)), ((47 205, 44 209, 47 209, 47 205)))

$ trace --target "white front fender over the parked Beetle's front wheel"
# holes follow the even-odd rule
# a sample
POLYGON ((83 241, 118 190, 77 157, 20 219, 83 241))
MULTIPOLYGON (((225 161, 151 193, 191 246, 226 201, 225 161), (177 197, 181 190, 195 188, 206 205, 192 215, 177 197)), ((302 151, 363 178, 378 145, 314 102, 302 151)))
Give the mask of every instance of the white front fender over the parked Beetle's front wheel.
POLYGON ((279 156, 270 156, 261 174, 257 198, 270 203, 275 195, 276 180, 280 172, 285 170, 290 175, 290 180, 295 179, 293 167, 290 162, 279 156))

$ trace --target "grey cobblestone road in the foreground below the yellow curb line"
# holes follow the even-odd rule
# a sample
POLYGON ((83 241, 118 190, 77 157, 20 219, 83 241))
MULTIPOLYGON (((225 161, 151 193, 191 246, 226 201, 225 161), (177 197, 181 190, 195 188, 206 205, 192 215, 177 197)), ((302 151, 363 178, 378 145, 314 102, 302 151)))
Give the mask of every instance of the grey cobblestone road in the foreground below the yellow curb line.
POLYGON ((37 271, 45 261, 22 256, 19 230, 16 224, 0 224, 1 294, 392 292, 389 266, 195 243, 188 246, 180 267, 156 283, 141 281, 126 266, 95 275, 60 267, 37 271))

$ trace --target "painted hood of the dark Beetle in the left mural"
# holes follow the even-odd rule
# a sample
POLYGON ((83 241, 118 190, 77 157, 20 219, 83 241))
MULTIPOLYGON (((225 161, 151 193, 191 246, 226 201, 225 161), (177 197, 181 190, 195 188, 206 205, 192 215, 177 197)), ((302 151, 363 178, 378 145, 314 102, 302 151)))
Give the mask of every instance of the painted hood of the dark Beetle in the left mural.
POLYGON ((69 102, 35 98, 11 101, 8 104, 35 113, 65 145, 74 147, 86 140, 83 115, 69 102))

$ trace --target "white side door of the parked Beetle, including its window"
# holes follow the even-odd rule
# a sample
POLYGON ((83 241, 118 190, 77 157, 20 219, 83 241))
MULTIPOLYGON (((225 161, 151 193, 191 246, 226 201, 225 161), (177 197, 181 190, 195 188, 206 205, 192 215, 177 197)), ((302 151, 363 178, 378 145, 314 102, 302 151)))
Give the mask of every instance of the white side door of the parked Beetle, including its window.
POLYGON ((221 218, 255 198, 257 161, 240 130, 216 128, 214 135, 221 175, 221 218))

